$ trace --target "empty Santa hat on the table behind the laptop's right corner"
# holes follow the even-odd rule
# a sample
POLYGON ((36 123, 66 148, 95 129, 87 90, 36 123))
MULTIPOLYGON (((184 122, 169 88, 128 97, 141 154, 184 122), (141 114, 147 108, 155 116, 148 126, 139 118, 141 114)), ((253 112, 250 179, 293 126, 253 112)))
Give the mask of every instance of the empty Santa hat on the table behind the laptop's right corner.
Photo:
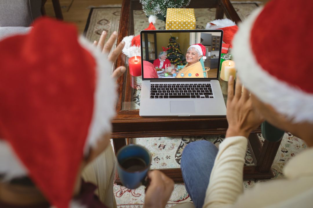
POLYGON ((211 22, 208 22, 206 26, 207 30, 216 30, 221 29, 223 30, 223 42, 230 44, 230 47, 232 47, 232 40, 233 36, 238 30, 238 26, 235 24, 235 22, 231 21, 230 19, 218 19, 213 20, 211 22))

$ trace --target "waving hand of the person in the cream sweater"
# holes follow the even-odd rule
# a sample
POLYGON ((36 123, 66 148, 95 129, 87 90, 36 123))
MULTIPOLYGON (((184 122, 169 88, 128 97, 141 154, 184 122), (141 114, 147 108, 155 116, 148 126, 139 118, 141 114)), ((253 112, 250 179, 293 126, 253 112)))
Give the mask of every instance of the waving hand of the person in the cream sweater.
POLYGON ((237 79, 235 94, 233 76, 228 81, 227 113, 228 129, 226 137, 244 136, 248 138, 250 132, 257 128, 264 118, 252 105, 250 92, 237 79))

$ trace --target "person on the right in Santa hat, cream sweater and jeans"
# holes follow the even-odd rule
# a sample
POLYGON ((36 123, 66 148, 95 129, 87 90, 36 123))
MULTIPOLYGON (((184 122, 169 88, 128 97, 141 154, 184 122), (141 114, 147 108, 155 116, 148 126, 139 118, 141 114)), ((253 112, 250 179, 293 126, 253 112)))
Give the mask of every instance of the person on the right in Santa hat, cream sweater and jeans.
POLYGON ((303 53, 313 48, 312 8, 313 1, 273 0, 239 25, 232 54, 243 84, 237 79, 234 90, 233 78, 228 83, 226 138, 219 148, 196 141, 182 152, 182 176, 196 207, 312 207, 313 70, 303 53), (244 191, 247 138, 264 120, 308 148, 285 165, 285 179, 244 191))

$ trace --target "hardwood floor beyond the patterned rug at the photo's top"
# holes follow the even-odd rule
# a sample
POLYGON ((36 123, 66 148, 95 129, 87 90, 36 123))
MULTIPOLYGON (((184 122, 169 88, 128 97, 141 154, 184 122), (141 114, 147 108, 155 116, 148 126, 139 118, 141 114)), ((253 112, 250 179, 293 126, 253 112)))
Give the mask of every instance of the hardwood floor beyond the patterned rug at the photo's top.
MULTIPOLYGON (((195 0, 192 0, 195 1, 195 0)), ((191 1, 191 4, 192 4, 191 1)), ((246 0, 237 0, 245 2, 246 0)), ((258 0, 268 2, 268 0, 258 0)), ((85 29, 90 6, 100 7, 108 4, 121 4, 122 0, 60 0, 64 21, 73 22, 77 25, 79 33, 85 29)), ((55 17, 52 1, 48 0, 45 4, 47 16, 55 17)))

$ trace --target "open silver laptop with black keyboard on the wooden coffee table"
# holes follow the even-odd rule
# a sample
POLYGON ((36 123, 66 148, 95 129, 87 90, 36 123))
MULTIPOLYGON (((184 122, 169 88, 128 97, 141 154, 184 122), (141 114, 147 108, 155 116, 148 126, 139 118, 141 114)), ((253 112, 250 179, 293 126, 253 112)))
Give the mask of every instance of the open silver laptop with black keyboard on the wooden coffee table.
MULTIPOLYGON (((222 30, 144 30, 140 32, 140 36, 142 72, 140 116, 226 115, 226 106, 218 81, 222 30), (173 44, 168 48, 170 39, 173 44), (210 70, 203 72, 208 68, 203 69, 202 66, 199 72, 199 64, 197 64, 188 71, 188 74, 183 74, 181 71, 187 63, 187 49, 196 43, 205 46, 207 59, 203 60, 203 64, 210 70), (176 54, 177 58, 173 60, 178 49, 182 55, 176 54), (157 60, 163 50, 167 50, 167 59, 172 59, 170 69, 169 60, 165 60, 163 65, 167 64, 162 67, 157 60), (153 68, 156 68, 157 74, 153 68), (175 70, 175 73, 172 70, 175 70), (194 70, 198 71, 194 74, 194 70)), ((191 52, 189 51, 188 54, 191 52)), ((189 57, 188 55, 188 60, 191 60, 189 57)))

